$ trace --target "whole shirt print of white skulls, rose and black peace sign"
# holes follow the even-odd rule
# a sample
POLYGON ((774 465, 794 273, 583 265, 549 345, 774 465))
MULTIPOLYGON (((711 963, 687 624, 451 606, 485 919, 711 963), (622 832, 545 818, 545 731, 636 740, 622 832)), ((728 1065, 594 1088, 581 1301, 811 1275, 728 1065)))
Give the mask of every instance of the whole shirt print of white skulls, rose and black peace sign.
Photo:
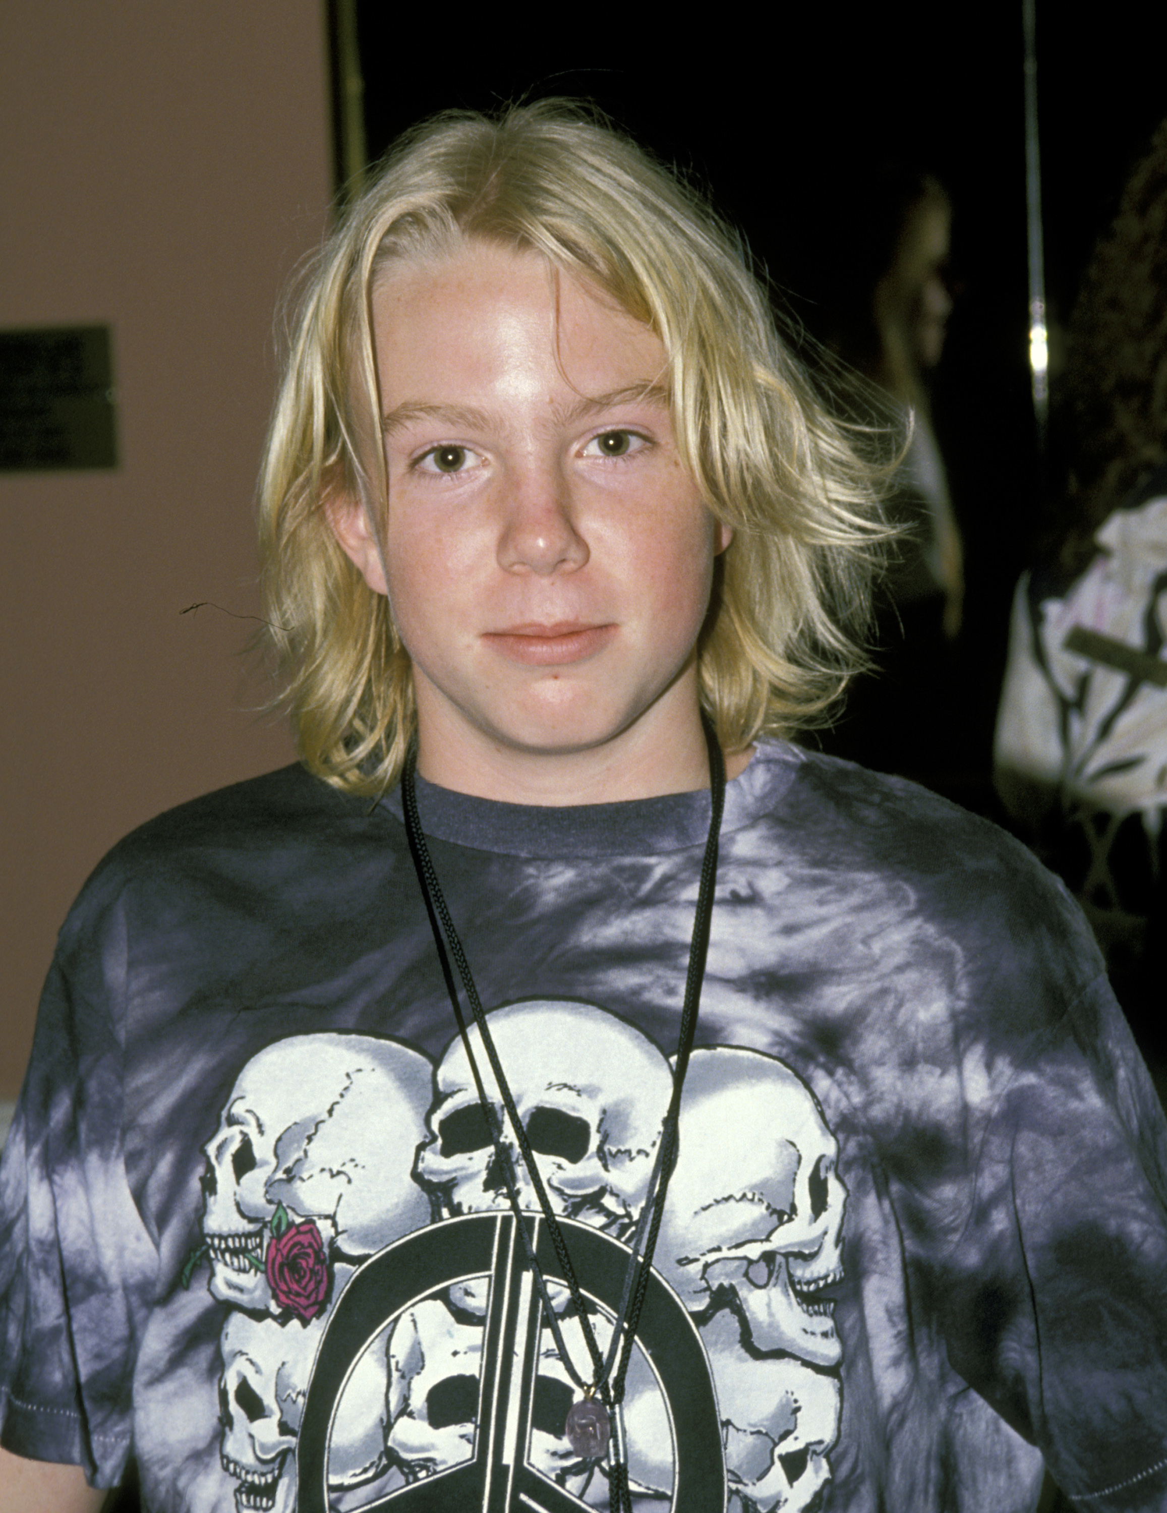
MULTIPOLYGON (((522 1002, 489 1018, 604 1350, 669 1062, 592 1005, 522 1002)), ((490 1092, 475 1029, 471 1042, 490 1092)), ((634 1505, 808 1510, 840 1416, 834 1136, 796 1073, 733 1047, 693 1052, 678 1135, 627 1383, 634 1505)), ((512 1139, 528 1233, 583 1371, 583 1330, 512 1139)), ((413 1489, 427 1507, 607 1507, 607 1457, 581 1459, 565 1437, 580 1392, 460 1038, 436 1068, 366 1035, 279 1041, 239 1073, 204 1154, 188 1280, 209 1260, 207 1288, 230 1306, 224 1510, 406 1513, 413 1489)))

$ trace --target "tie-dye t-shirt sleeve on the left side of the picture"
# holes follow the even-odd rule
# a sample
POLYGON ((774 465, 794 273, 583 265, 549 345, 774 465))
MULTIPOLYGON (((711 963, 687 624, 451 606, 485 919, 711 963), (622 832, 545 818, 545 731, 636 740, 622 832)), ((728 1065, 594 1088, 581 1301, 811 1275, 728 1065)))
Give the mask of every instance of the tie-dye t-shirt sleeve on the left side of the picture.
POLYGON ((120 980, 117 930, 67 923, 0 1165, 0 1443, 94 1486, 130 1451, 157 1272, 123 1160, 120 980))

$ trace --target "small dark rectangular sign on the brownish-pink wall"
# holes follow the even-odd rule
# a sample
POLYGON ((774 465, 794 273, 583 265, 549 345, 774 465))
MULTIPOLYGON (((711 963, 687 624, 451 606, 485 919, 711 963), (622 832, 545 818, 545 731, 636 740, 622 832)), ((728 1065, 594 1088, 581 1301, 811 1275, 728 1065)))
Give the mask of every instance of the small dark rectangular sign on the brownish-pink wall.
POLYGON ((0 472, 117 464, 109 327, 0 331, 0 472))

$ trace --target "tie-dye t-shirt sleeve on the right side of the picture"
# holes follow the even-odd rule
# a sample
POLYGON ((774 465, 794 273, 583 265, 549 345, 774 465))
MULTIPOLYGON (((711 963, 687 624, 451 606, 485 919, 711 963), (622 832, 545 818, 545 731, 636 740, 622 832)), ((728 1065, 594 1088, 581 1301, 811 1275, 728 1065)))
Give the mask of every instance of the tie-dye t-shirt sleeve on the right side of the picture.
POLYGON ((1076 1507, 1167 1508, 1167 1127, 1105 977, 988 1123, 938 1268, 952 1366, 1076 1507))

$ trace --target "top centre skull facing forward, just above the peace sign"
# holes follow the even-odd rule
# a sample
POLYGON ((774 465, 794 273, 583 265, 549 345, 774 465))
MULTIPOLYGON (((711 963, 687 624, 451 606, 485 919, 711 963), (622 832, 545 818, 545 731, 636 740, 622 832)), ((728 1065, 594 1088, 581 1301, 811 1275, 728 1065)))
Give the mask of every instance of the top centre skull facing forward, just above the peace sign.
MULTIPOLYGON (((503 1126, 524 1207, 539 1200, 498 1097, 475 1026, 471 1042, 503 1126)), ((672 1092, 657 1047, 589 1003, 512 1003, 490 1014, 490 1035, 555 1213, 624 1238, 652 1174, 672 1092)), ((462 1039, 437 1068, 430 1139, 418 1179, 448 1213, 507 1206, 503 1174, 462 1039)))

